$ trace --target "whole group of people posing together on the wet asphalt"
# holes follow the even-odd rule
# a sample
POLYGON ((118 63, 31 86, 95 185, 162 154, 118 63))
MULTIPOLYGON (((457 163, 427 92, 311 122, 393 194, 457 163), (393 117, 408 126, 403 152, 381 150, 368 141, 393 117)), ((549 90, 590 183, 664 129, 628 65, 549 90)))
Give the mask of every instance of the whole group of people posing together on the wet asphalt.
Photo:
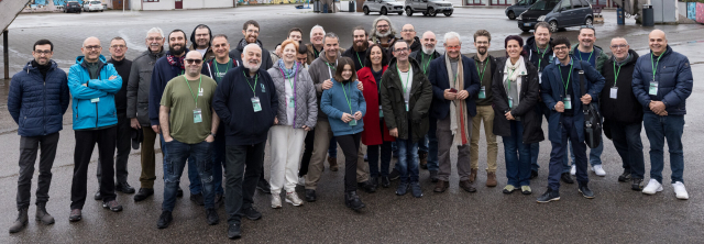
MULTIPOLYGON (((625 38, 616 37, 608 56, 594 45, 596 31, 591 26, 581 27, 579 43, 572 45, 565 37, 552 38, 549 25, 539 23, 527 41, 507 36, 506 55, 501 57, 488 54, 488 31, 474 33, 472 57, 460 53, 460 35, 448 32, 441 54, 435 33, 418 37, 414 26, 406 24, 396 36, 386 16, 374 20, 369 32, 353 29, 348 49, 340 47, 337 34, 316 25, 309 44, 302 44, 302 31, 294 27, 270 52, 257 38, 260 31, 256 21, 246 21, 244 37, 231 48, 227 35, 212 34, 204 24, 189 37, 182 30, 164 35, 154 27, 146 32, 148 49, 132 60, 125 58, 123 38, 110 41, 111 58, 106 59, 100 40, 88 37, 84 55, 68 75, 51 59, 54 45, 37 41, 34 60, 14 75, 8 99, 21 135, 19 217, 10 232, 28 223, 37 151, 42 154, 36 219, 54 223, 45 206, 58 131, 69 103, 76 138, 72 222, 82 218, 88 163, 96 144, 99 190, 95 199, 103 208, 121 211, 116 191, 135 192, 127 182, 127 163, 130 146, 140 143, 141 186, 134 201, 154 195, 157 136, 164 155, 160 229, 173 221, 175 201, 184 195, 179 179, 186 166, 190 200, 205 207, 211 225, 219 222, 216 209, 224 204, 228 236, 235 239, 243 217, 262 218, 253 207, 256 189, 271 193, 275 209, 283 207, 282 191, 285 202, 304 204, 296 185, 305 186, 305 201, 316 201, 327 154, 331 154, 329 169, 339 168, 337 145, 344 154, 344 203, 355 211, 365 208, 358 189, 375 192, 380 185, 388 188, 396 179, 400 179, 396 195, 422 197, 419 168, 429 170, 433 192, 444 192, 452 175, 453 147, 459 187, 475 192, 482 124, 486 186, 498 185, 498 135, 506 163, 503 192, 530 195, 530 180, 538 177, 539 142, 546 138, 543 117, 552 149, 549 186, 537 201, 559 200, 560 181, 573 184, 573 175, 579 192, 594 198, 588 187, 585 107, 597 108, 604 117, 604 134, 623 162, 619 181, 647 195, 661 191, 667 138, 672 187, 676 198, 689 198, 681 138, 693 78, 688 58, 672 51, 662 31, 649 34, 648 55, 639 56, 625 38), (647 186, 644 124, 651 147, 647 186), (266 142, 271 167, 265 169, 266 142), (393 157, 398 159, 391 169, 393 157)), ((603 143, 588 153, 597 176, 606 174, 602 149, 603 143)))

